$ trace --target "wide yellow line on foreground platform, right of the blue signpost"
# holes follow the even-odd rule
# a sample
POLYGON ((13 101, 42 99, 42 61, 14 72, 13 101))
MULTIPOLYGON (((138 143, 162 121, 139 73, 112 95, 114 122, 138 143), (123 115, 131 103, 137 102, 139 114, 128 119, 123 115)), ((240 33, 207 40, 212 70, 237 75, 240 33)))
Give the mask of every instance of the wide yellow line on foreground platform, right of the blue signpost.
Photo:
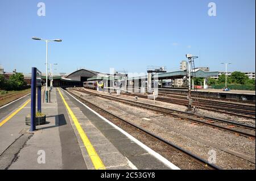
POLYGON ((89 154, 90 159, 93 162, 93 165, 94 165, 95 169, 96 170, 106 170, 104 163, 101 161, 101 158, 97 154, 96 150, 93 148, 93 145, 91 144, 89 138, 86 136, 84 130, 82 129, 81 125, 79 124, 79 121, 77 120, 76 116, 72 112, 71 108, 68 106, 67 102, 65 101, 65 99, 64 99, 63 95, 61 94, 59 88, 57 88, 57 90, 59 91, 59 94, 60 94, 65 106, 67 107, 67 110, 68 110, 69 114, 71 115, 73 122, 76 125, 76 129, 80 134, 82 142, 84 142, 84 146, 85 146, 85 148, 86 148, 86 150, 89 154))

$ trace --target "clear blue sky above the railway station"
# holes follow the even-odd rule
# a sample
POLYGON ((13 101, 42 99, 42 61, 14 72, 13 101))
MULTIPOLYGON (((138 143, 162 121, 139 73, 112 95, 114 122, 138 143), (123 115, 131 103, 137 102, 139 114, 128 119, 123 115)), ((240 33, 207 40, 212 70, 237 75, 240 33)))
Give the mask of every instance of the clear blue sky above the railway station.
POLYGON ((196 66, 255 71, 254 0, 2 0, 0 65, 5 71, 45 71, 46 45, 32 36, 61 38, 49 43, 57 72, 109 68, 141 73, 148 65, 179 69, 185 54, 196 66), (46 16, 38 16, 38 3, 46 16), (217 16, 208 16, 215 2, 217 16))

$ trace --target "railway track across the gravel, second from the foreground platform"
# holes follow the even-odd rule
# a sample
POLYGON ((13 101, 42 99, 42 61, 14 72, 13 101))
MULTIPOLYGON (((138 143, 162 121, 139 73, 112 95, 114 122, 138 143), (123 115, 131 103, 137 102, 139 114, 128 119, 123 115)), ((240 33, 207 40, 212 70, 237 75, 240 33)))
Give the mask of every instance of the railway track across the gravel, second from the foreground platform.
POLYGON ((99 96, 101 98, 105 98, 105 99, 109 99, 109 100, 113 100, 113 101, 118 101, 118 102, 121 102, 124 104, 129 104, 131 106, 144 108, 146 110, 154 111, 157 113, 162 113, 164 115, 177 117, 177 118, 183 119, 183 120, 188 120, 188 121, 191 121, 192 123, 207 125, 209 127, 221 129, 223 131, 227 131, 230 133, 234 133, 237 135, 255 139, 255 127, 251 127, 250 125, 240 124, 240 123, 237 123, 235 121, 230 121, 230 120, 217 119, 217 118, 210 117, 210 116, 198 115, 196 113, 191 113, 191 112, 172 110, 170 108, 164 108, 164 107, 160 107, 160 106, 155 106, 153 104, 142 103, 142 102, 138 102, 138 101, 134 101, 134 100, 117 98, 117 97, 109 96, 109 95, 97 94, 94 92, 86 91, 84 89, 76 88, 76 89, 72 89, 72 90, 84 92, 86 94, 90 94, 90 95, 94 95, 94 96, 99 96))

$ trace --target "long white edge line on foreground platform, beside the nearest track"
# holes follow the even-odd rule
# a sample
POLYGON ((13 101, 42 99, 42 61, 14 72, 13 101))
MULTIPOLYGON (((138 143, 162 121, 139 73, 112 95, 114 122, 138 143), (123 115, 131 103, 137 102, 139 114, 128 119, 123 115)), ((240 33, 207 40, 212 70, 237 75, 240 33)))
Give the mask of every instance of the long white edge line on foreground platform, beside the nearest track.
MULTIPOLYGON (((61 88, 62 89, 62 88, 61 88)), ((64 89, 62 89, 64 90, 64 89)), ((66 90, 64 90, 65 92, 67 92, 66 90)), ((76 99, 73 95, 69 94, 69 92, 67 92, 68 95, 72 96, 72 98, 76 99)), ((80 100, 76 99, 78 102, 80 102, 83 106, 85 106, 86 108, 88 108, 88 110, 92 111, 93 113, 95 113, 98 117, 100 117, 101 119, 103 119, 104 121, 106 121, 107 123, 109 123, 110 125, 112 125, 112 127, 114 127, 115 129, 117 129, 119 132, 125 134, 125 136, 127 136, 131 141, 134 141, 136 144, 138 144, 139 146, 141 146, 141 148, 143 148, 144 150, 146 150, 148 153, 150 153, 151 155, 153 155, 155 158, 159 159, 159 161, 163 162, 165 165, 167 165, 168 167, 170 167, 170 169, 172 170, 180 170, 179 167, 177 167, 176 165, 174 165, 173 163, 171 163, 170 161, 168 161, 166 158, 164 158, 162 155, 160 155, 159 153, 156 153, 154 150, 152 150, 151 148, 149 148, 148 146, 144 145, 141 141, 137 140, 135 137, 131 136, 131 134, 125 132, 123 129, 119 128, 117 125, 113 124, 111 121, 109 121, 108 119, 106 119, 105 117, 101 116, 99 113, 97 113, 96 111, 92 110, 91 108, 89 108, 88 106, 86 106, 84 103, 82 103, 80 100)))

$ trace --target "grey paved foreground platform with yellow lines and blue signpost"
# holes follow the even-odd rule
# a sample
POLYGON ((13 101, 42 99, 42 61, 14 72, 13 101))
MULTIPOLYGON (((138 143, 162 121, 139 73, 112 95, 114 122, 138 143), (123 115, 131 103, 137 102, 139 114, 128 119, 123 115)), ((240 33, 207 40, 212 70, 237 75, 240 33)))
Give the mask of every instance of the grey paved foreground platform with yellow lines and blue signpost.
POLYGON ((179 169, 63 89, 34 132, 28 113, 30 95, 0 108, 0 169, 179 169))

